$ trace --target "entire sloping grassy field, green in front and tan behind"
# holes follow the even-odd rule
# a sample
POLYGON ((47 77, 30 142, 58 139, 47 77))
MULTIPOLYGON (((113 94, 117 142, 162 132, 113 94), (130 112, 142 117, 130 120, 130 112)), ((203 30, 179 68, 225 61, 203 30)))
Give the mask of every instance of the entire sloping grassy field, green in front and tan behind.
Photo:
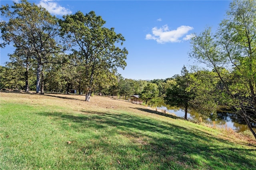
POLYGON ((0 93, 0 170, 255 170, 256 141, 110 97, 0 93))

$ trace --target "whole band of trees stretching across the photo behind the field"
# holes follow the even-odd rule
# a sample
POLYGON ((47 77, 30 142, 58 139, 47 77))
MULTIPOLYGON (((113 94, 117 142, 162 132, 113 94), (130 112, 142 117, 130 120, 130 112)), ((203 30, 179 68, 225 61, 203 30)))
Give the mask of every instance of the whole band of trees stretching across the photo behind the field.
POLYGON ((226 18, 212 32, 208 27, 191 39, 189 56, 202 63, 180 75, 151 81, 124 79, 128 51, 124 37, 105 28, 101 16, 76 12, 57 19, 26 0, 1 7, 1 47, 12 44, 10 62, 0 67, 1 88, 69 93, 77 89, 90 100, 92 92, 138 94, 148 103, 164 102, 202 116, 227 108, 252 129, 256 121, 256 3, 234 0, 226 18), (35 15, 36 14, 36 15, 35 15))

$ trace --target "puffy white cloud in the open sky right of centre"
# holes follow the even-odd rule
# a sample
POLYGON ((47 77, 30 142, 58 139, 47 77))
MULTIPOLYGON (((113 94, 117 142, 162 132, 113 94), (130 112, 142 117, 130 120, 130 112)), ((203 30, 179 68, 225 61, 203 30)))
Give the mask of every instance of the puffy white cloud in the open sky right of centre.
MULTIPOLYGON (((193 29, 190 26, 180 26, 176 30, 169 30, 167 25, 162 26, 162 28, 154 27, 152 28, 152 34, 146 35, 146 40, 156 40, 157 43, 181 42, 180 38, 193 29)), ((191 35, 186 35, 183 40, 192 38, 191 35)))

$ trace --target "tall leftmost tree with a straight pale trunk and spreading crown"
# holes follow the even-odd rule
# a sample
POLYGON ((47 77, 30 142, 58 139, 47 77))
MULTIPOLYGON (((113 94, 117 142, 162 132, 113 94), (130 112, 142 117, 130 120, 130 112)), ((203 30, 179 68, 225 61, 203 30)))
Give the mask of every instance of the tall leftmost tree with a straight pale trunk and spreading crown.
POLYGON ((56 43, 58 20, 45 8, 27 0, 14 2, 11 7, 2 6, 1 14, 9 19, 0 24, 4 40, 1 47, 13 43, 20 56, 33 57, 37 61, 36 93, 39 93, 43 64, 50 62, 53 54, 62 49, 56 43))

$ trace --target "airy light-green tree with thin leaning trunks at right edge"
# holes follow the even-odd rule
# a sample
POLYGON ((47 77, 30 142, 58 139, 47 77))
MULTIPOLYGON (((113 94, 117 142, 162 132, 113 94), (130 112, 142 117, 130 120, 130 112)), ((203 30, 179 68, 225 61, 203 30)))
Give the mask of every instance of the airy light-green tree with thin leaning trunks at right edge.
POLYGON ((217 73, 226 104, 244 119, 256 138, 251 125, 256 116, 255 1, 234 0, 218 32, 214 35, 207 28, 192 38, 191 43, 190 56, 217 73), (222 68, 229 71, 229 76, 222 68))

